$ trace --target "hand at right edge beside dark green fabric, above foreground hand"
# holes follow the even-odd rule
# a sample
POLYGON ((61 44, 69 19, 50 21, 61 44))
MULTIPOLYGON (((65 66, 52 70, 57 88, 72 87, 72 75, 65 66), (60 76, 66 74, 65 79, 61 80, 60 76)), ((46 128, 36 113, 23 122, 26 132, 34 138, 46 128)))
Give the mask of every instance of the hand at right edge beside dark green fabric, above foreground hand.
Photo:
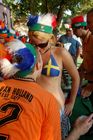
POLYGON ((88 84, 86 87, 84 87, 83 89, 82 89, 82 91, 81 91, 81 96, 83 97, 83 98, 86 98, 86 97, 89 97, 90 95, 91 95, 91 87, 90 87, 91 85, 90 84, 88 84))

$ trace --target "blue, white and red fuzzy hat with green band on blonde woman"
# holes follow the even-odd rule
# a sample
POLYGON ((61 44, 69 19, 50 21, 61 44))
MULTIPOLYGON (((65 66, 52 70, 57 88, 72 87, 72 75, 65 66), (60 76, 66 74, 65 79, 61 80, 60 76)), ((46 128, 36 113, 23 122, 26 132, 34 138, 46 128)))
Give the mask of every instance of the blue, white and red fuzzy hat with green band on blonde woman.
POLYGON ((53 33, 53 28, 56 25, 56 17, 50 13, 40 16, 30 15, 27 22, 30 31, 40 31, 49 34, 53 33))

